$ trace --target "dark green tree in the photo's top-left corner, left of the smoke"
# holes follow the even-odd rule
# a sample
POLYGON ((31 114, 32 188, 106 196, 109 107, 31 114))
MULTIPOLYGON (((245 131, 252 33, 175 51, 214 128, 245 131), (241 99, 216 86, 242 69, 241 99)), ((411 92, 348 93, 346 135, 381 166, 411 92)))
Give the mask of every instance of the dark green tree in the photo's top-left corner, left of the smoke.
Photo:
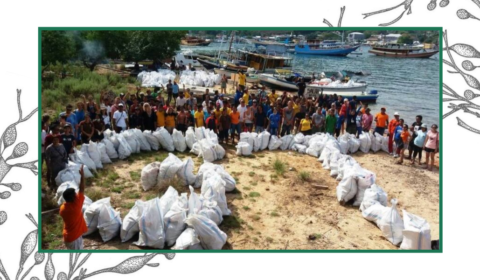
POLYGON ((65 63, 74 56, 74 43, 65 31, 42 31, 42 72, 51 64, 65 63))

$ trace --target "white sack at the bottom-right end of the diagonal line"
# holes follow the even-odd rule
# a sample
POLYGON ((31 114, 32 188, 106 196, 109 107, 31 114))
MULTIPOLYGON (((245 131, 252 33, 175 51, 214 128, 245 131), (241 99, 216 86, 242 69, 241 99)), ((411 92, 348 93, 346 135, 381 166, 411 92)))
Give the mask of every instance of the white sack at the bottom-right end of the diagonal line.
POLYGON ((403 210, 403 240, 402 250, 431 250, 432 237, 428 222, 416 215, 403 210))

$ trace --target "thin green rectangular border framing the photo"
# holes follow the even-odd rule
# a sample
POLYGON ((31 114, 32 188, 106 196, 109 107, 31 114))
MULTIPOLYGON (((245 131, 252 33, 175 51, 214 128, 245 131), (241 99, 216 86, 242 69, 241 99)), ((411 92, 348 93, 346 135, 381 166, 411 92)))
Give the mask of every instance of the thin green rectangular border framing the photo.
MULTIPOLYGON (((439 149, 439 250, 45 250, 42 249, 42 231, 38 233, 38 252, 40 253, 426 253, 435 254, 443 253, 443 28, 442 27, 39 27, 38 28, 38 146, 42 145, 41 125, 42 125, 42 31, 47 30, 318 30, 318 31, 354 31, 354 30, 373 30, 373 31, 401 31, 401 30, 424 30, 439 32, 439 132, 440 132, 440 149, 439 149)), ((42 158, 42 151, 38 149, 38 158, 42 158)), ((40 162, 41 163, 41 162, 40 162)), ((42 224, 42 166, 39 165, 38 176, 38 221, 39 227, 42 224)))

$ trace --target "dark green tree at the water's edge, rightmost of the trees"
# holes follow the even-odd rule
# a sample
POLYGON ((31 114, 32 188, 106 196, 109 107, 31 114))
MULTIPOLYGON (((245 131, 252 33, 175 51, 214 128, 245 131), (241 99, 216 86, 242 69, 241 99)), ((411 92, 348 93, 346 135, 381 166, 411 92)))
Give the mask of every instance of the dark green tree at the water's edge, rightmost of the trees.
POLYGON ((152 59, 158 62, 172 57, 180 49, 180 40, 186 31, 130 31, 129 42, 125 50, 125 59, 139 62, 152 59))

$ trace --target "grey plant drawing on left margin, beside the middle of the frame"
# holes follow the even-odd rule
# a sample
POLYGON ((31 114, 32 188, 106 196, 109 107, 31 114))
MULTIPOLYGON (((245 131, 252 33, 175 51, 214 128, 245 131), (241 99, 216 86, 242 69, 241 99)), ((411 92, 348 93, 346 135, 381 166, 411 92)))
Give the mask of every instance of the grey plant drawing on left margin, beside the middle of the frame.
MULTIPOLYGON (((13 145, 17 140, 17 125, 30 119, 37 111, 38 108, 35 108, 30 114, 26 117, 22 115, 22 106, 20 103, 20 97, 22 90, 17 89, 17 106, 18 106, 18 120, 13 124, 9 125, 7 129, 3 132, 2 137, 0 138, 0 185, 10 188, 12 191, 19 191, 22 189, 20 183, 3 183, 3 179, 10 172, 13 167, 25 168, 33 172, 33 174, 38 175, 38 168, 35 165, 38 160, 25 163, 16 163, 10 165, 8 160, 15 159, 24 156, 28 152, 28 144, 25 142, 18 143, 13 149, 12 154, 8 158, 4 158, 3 153, 5 149, 13 145), (3 147, 2 147, 3 144, 3 147), (3 149, 2 149, 3 148, 3 149)), ((7 199, 11 196, 10 191, 0 192, 0 199, 7 199)), ((5 211, 0 211, 0 225, 7 221, 7 213, 5 211)))

